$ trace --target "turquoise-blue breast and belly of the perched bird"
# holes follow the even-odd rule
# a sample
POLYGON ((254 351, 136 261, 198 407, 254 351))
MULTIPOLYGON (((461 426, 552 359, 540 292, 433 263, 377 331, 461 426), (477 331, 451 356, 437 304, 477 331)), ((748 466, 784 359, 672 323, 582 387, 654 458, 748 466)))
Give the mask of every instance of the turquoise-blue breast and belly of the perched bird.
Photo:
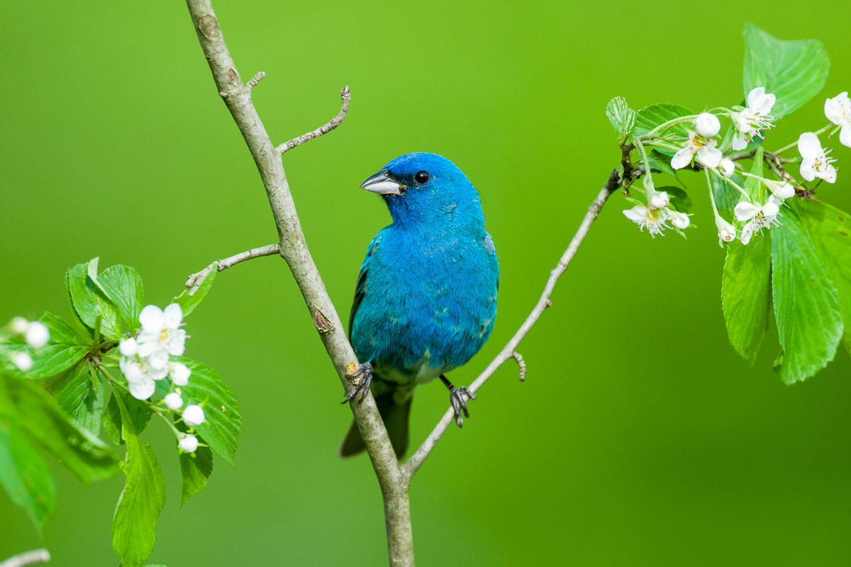
POLYGON ((498 281, 483 223, 476 230, 391 224, 363 262, 352 346, 385 379, 427 382, 465 364, 488 340, 498 281))

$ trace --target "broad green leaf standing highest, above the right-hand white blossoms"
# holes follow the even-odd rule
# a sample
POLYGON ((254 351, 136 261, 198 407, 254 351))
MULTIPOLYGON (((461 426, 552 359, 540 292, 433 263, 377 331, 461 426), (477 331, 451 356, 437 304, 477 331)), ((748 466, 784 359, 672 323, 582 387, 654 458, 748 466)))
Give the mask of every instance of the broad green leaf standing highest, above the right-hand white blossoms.
POLYGON ((820 41, 783 41, 745 24, 745 97, 751 89, 765 87, 777 97, 772 116, 790 115, 819 94, 830 68, 820 41))

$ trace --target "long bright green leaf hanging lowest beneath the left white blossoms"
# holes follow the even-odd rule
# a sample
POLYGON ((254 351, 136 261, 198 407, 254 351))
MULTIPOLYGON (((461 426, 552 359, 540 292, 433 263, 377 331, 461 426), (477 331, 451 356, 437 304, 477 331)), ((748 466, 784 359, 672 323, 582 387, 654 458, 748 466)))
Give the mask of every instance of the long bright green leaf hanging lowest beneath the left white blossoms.
POLYGON ((151 445, 142 443, 121 402, 127 457, 121 469, 127 475, 112 518, 112 548, 123 567, 139 567, 151 557, 157 540, 157 519, 165 506, 165 481, 151 445))

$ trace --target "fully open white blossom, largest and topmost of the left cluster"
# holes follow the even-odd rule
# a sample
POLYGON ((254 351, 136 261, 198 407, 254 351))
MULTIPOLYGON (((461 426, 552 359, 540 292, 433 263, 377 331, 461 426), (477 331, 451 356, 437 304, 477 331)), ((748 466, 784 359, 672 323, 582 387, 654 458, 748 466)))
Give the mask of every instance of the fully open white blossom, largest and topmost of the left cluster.
POLYGON ((147 305, 139 315, 142 330, 137 339, 139 356, 147 359, 151 366, 166 369, 168 355, 180 356, 186 348, 186 331, 180 328, 183 310, 172 303, 167 308, 147 305))

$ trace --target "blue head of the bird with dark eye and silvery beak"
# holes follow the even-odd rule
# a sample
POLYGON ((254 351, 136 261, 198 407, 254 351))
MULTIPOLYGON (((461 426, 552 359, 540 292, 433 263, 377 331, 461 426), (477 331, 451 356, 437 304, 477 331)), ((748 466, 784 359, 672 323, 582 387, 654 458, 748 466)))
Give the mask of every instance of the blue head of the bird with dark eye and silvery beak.
POLYGON ((400 226, 484 226, 482 202, 466 175, 443 156, 415 152, 399 156, 363 182, 361 189, 384 197, 400 226))

